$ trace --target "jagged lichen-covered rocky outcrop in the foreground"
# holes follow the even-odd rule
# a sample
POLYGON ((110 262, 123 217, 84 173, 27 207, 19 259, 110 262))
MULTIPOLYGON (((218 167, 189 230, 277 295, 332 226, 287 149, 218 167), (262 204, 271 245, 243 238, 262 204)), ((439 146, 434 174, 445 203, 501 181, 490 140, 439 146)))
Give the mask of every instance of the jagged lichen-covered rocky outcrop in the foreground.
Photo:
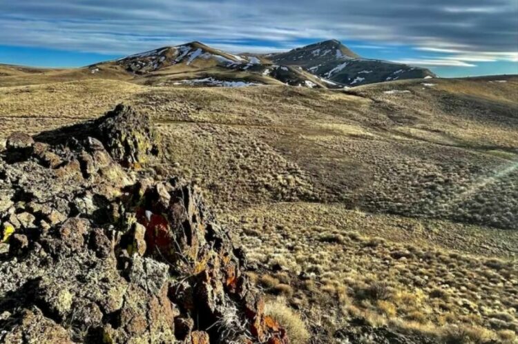
POLYGON ((0 341, 289 342, 198 191, 134 169, 159 150, 147 116, 119 105, 13 135, 0 156, 0 341))

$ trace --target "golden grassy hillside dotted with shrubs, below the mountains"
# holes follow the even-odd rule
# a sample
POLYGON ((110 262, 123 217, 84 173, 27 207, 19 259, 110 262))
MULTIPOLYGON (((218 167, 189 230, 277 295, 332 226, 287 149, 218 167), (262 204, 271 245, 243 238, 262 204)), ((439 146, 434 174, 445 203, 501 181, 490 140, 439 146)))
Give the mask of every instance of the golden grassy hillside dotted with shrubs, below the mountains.
POLYGON ((20 72, 27 85, 0 88, 3 139, 121 101, 149 114, 163 155, 146 171, 202 190, 265 312, 309 331, 300 343, 515 341, 518 77, 325 90, 30 85, 20 72))

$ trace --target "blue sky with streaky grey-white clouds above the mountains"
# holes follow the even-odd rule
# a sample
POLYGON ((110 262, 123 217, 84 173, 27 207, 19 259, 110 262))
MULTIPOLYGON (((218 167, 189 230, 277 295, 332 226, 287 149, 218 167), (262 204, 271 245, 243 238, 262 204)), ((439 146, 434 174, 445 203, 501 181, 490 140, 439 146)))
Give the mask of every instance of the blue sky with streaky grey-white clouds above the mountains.
POLYGON ((189 41, 276 52, 338 39, 441 77, 518 74, 518 0, 0 0, 0 63, 79 67, 189 41))

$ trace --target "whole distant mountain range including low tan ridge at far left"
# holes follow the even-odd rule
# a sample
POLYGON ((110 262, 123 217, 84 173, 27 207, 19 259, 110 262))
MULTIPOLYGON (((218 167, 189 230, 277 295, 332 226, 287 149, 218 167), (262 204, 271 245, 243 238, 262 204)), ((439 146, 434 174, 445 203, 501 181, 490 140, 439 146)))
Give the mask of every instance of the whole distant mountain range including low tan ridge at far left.
POLYGON ((231 54, 193 41, 84 68, 0 65, 1 85, 110 79, 155 86, 290 85, 338 89, 426 77, 435 75, 424 68, 363 59, 336 40, 275 54, 231 54))

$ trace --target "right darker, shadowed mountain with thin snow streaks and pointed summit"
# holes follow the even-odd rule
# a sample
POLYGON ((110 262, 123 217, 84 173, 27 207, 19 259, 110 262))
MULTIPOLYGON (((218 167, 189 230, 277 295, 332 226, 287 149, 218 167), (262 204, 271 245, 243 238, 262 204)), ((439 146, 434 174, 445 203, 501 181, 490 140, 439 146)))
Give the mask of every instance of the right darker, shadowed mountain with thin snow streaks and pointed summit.
POLYGON ((320 78, 345 86, 437 77, 426 68, 363 59, 334 39, 296 48, 289 52, 269 54, 267 57, 274 63, 297 65, 320 78))

